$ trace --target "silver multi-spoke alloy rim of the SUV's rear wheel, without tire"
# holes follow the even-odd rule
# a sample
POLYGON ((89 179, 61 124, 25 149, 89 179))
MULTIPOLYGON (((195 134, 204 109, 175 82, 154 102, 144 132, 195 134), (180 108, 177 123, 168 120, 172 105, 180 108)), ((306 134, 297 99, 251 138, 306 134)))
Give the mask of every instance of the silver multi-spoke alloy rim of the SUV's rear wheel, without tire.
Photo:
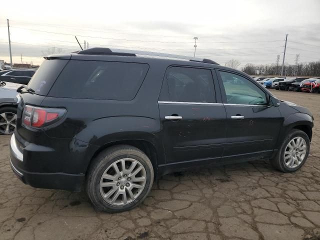
POLYGON ((103 172, 99 190, 104 201, 111 205, 125 205, 135 200, 146 183, 144 166, 136 159, 122 158, 103 172))

